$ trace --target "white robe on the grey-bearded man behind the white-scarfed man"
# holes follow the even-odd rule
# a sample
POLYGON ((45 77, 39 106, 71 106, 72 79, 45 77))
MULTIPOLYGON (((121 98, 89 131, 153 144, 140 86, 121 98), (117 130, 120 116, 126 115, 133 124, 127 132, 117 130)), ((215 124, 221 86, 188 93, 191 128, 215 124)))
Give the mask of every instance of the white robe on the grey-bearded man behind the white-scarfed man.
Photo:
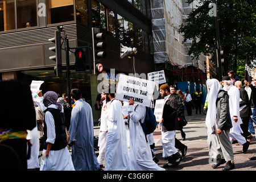
POLYGON ((239 144, 244 144, 246 143, 246 139, 241 135, 243 133, 240 125, 242 124, 242 119, 240 117, 240 92, 239 89, 236 88, 234 85, 230 85, 228 87, 228 95, 229 95, 229 113, 230 113, 230 118, 232 120, 232 129, 229 131, 229 137, 230 140, 234 139, 237 140, 239 144), (238 121, 234 122, 233 117, 234 116, 238 117, 238 121))

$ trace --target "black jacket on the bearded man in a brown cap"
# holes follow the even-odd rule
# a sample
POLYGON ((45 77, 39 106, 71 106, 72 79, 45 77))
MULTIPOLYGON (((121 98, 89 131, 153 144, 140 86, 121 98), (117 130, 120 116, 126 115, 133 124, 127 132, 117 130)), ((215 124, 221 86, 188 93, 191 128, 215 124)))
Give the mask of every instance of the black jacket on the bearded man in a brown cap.
POLYGON ((179 130, 177 118, 177 101, 174 96, 170 96, 163 109, 163 131, 179 130))

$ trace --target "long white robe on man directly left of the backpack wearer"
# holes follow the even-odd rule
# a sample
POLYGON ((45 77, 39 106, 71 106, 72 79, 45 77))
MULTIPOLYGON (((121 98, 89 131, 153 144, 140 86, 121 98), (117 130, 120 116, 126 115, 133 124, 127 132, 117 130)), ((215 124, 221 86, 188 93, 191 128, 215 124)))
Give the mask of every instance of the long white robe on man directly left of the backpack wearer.
POLYGON ((108 136, 105 150, 105 171, 122 171, 129 169, 125 122, 122 104, 118 100, 110 101, 106 112, 108 136))

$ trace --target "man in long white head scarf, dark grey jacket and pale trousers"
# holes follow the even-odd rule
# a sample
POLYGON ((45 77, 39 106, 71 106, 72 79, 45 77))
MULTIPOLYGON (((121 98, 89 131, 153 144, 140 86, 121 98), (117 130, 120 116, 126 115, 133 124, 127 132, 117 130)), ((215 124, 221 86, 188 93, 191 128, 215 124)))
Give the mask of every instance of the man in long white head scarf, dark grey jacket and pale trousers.
POLYGON ((216 79, 207 80, 207 86, 209 104, 205 123, 208 128, 209 155, 210 158, 217 159, 213 168, 227 162, 222 170, 228 171, 234 168, 233 148, 229 140, 229 130, 232 128, 229 96, 216 79))

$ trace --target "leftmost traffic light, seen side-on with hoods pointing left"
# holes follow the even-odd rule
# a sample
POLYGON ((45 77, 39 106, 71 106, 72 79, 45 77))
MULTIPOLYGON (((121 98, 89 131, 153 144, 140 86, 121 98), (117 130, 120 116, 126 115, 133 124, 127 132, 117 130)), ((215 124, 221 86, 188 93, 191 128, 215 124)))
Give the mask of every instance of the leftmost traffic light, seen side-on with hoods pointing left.
POLYGON ((55 52, 54 56, 49 56, 49 59, 55 61, 54 72, 57 77, 62 77, 62 58, 61 58, 61 36, 60 31, 55 31, 55 37, 48 39, 55 44, 53 47, 49 47, 50 51, 55 52))

